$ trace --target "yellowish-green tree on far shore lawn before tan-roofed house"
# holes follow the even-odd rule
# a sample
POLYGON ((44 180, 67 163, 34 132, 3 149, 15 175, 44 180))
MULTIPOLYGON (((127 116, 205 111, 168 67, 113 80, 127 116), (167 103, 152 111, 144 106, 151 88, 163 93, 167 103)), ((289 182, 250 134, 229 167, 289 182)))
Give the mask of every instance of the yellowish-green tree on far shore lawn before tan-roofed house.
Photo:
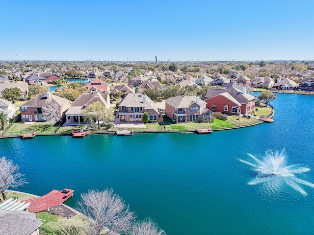
POLYGON ((114 116, 110 109, 107 109, 101 101, 96 101, 83 110, 83 119, 88 123, 97 121, 98 129, 100 129, 99 121, 109 122, 114 120, 114 116))

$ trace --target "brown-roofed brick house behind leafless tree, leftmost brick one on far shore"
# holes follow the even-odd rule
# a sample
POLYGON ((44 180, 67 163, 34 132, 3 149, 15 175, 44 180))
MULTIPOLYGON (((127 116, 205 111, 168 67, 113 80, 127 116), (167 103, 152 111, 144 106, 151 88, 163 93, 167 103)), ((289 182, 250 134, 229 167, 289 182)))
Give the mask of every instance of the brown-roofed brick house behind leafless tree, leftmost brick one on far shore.
POLYGON ((50 92, 40 93, 21 105, 22 121, 44 121, 43 107, 50 106, 52 103, 60 106, 62 118, 65 117, 65 112, 71 106, 71 101, 68 99, 50 94, 50 92))

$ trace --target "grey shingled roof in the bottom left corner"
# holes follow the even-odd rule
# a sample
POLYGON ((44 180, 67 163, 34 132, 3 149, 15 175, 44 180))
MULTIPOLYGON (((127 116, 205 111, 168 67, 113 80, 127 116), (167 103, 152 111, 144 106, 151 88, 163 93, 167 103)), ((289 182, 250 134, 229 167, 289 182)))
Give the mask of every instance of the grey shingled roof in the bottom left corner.
POLYGON ((0 231, 5 235, 39 235, 42 225, 36 213, 0 209, 0 231))

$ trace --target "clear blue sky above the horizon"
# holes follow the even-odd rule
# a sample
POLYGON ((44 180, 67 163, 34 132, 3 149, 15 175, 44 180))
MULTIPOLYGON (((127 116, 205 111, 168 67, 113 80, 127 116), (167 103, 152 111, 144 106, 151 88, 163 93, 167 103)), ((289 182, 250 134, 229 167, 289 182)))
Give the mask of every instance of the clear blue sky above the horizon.
POLYGON ((0 0, 0 60, 314 60, 314 0, 0 0))

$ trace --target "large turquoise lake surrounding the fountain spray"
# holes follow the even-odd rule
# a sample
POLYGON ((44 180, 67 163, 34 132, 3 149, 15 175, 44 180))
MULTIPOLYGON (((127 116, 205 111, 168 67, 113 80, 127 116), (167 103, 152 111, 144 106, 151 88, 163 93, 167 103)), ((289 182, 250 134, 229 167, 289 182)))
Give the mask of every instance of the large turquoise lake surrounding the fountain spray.
POLYGON ((29 182, 18 190, 43 195, 71 188, 113 188, 138 219, 151 217, 167 235, 304 235, 314 231, 314 189, 267 191, 238 159, 285 148, 297 175, 314 183, 314 97, 277 94, 275 121, 209 135, 157 133, 0 140, 0 156, 20 165, 29 182))

